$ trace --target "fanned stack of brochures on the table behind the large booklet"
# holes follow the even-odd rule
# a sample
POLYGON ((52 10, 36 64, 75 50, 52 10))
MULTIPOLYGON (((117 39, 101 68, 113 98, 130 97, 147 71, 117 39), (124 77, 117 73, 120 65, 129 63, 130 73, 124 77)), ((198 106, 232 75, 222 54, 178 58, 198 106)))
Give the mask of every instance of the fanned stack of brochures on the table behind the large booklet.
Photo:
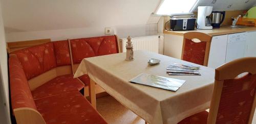
POLYGON ((189 64, 171 64, 166 68, 168 75, 201 76, 200 67, 189 64))

